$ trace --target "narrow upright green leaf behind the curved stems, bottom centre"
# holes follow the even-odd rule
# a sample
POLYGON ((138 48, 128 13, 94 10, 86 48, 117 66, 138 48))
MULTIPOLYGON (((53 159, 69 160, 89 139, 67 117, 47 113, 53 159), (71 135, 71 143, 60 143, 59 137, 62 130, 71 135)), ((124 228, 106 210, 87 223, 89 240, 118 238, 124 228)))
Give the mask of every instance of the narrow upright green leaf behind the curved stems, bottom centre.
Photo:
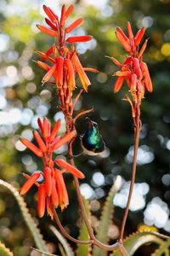
MULTIPOLYGON (((85 211, 87 213, 88 219, 90 219, 91 212, 90 212, 90 207, 89 207, 89 201, 84 196, 82 196, 82 201, 83 201, 83 205, 84 205, 85 211)), ((81 230, 80 230, 78 239, 82 240, 82 241, 89 240, 88 230, 87 230, 86 224, 84 223, 83 219, 82 219, 82 226, 81 226, 81 230)), ((92 247, 90 245, 78 244, 77 245, 77 256, 79 256, 79 255, 90 256, 91 250, 92 250, 92 247)))

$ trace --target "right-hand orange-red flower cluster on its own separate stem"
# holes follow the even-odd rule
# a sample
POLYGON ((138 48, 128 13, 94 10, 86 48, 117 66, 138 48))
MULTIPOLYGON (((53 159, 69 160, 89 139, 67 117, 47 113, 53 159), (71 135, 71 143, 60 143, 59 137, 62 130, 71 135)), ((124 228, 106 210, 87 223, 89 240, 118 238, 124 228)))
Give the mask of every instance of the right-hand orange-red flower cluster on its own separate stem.
POLYGON ((150 79, 150 73, 148 67, 142 57, 144 49, 147 46, 147 39, 139 49, 139 44, 144 37, 145 28, 139 29, 139 32, 133 36, 132 28, 129 22, 127 22, 127 34, 128 37, 122 32, 120 27, 116 28, 116 38, 122 44, 123 48, 128 52, 126 60, 121 64, 114 57, 111 60, 120 68, 120 71, 114 73, 118 78, 114 84, 114 92, 118 92, 122 88, 123 81, 127 82, 129 90, 133 96, 133 101, 137 103, 141 102, 144 97, 144 90, 152 92, 153 87, 150 79))

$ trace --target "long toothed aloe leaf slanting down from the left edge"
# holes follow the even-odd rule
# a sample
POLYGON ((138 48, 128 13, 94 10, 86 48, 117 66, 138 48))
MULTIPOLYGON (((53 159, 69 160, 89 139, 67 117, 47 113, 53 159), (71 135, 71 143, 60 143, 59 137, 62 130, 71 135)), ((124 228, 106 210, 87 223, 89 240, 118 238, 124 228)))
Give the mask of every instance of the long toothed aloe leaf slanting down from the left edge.
MULTIPOLYGON (((11 184, 4 182, 2 179, 0 179, 0 186, 8 189, 8 191, 14 195, 14 198, 16 199, 20 211, 22 213, 22 216, 24 220, 26 221, 26 224, 31 231, 31 234, 34 238, 34 241, 37 245, 37 248, 45 253, 48 252, 48 247, 46 246, 46 242, 42 239, 42 234, 40 233, 40 230, 37 228, 37 224, 31 218, 31 214, 28 212, 28 208, 26 207, 26 202, 24 201, 23 197, 19 194, 19 191, 15 189, 11 184)), ((1 254, 0 254, 1 255, 1 254)))

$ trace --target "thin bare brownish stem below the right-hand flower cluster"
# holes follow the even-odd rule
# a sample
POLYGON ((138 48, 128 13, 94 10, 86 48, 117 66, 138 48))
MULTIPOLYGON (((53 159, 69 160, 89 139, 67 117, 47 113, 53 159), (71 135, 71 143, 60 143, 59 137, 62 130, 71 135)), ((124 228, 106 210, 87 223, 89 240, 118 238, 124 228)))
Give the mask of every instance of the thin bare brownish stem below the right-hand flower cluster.
POLYGON ((137 111, 136 111, 135 127, 134 127, 134 150, 133 150, 132 177, 131 177, 130 189, 129 189, 128 198, 127 198, 127 207, 125 209, 124 216, 123 216, 123 219, 122 219, 122 226, 121 226, 120 236, 119 236, 119 240, 118 240, 121 243, 123 241, 123 234, 124 234, 125 224, 127 222, 127 214, 128 214, 128 211, 129 211, 130 201, 131 201, 131 198, 132 198, 132 195, 133 195, 133 186, 134 186, 135 175, 136 175, 137 154, 138 154, 138 148, 139 148, 140 126, 141 126, 140 111, 139 111, 139 106, 138 106, 137 111))

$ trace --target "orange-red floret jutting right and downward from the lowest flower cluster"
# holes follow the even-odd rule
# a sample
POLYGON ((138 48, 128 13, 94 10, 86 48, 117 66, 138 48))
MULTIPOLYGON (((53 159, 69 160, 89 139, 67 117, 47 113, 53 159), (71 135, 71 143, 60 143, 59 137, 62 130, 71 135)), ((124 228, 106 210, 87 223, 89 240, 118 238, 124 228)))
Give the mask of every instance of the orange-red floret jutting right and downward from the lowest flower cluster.
POLYGON ((68 172, 71 172, 72 175, 79 178, 84 178, 84 174, 82 172, 80 172, 75 166, 71 166, 70 164, 65 162, 65 160, 58 159, 58 160, 54 160, 54 162, 62 169, 65 169, 68 172))

